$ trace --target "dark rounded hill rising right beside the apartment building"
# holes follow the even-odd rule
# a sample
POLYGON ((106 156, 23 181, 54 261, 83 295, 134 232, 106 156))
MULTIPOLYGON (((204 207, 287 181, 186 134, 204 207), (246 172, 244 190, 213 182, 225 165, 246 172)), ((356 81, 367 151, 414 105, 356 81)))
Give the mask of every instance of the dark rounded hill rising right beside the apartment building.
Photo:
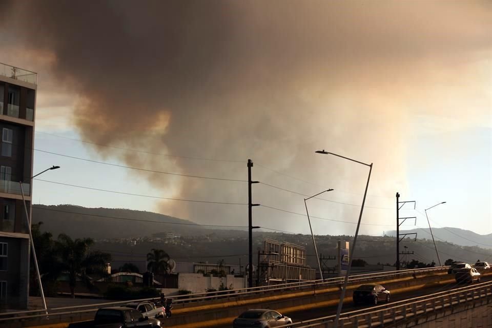
POLYGON ((51 232, 55 238, 60 233, 72 238, 103 239, 151 236, 159 232, 193 234, 204 229, 195 222, 153 212, 85 208, 69 204, 34 204, 32 222, 39 221, 43 222, 42 230, 51 232))

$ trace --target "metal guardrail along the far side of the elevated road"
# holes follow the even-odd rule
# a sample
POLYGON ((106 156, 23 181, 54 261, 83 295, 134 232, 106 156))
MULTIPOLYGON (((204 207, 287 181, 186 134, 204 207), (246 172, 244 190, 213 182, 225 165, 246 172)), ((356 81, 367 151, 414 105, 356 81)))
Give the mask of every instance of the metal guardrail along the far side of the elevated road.
MULTIPOLYGON (((425 274, 429 272, 443 272, 447 271, 449 267, 437 267, 437 268, 424 268, 424 269, 412 269, 412 270, 400 270, 398 272, 392 271, 387 273, 370 273, 363 275, 353 275, 349 278, 349 282, 363 282, 363 281, 374 281, 375 279, 387 279, 387 278, 396 278, 401 276, 412 276, 416 274, 425 274)), ((280 291, 292 291, 299 290, 303 288, 326 288, 330 285, 337 285, 343 283, 344 277, 336 277, 329 278, 323 280, 311 280, 311 281, 300 281, 300 282, 292 282, 285 283, 279 285, 271 285, 271 286, 258 286, 253 288, 243 288, 237 290, 230 291, 219 291, 214 293, 199 293, 199 294, 190 294, 190 295, 176 295, 172 296, 173 304, 176 306, 181 303, 192 303, 192 302, 202 302, 209 301, 215 299, 226 299, 230 300, 232 298, 236 298, 238 296, 248 296, 248 295, 258 295, 264 294, 268 292, 280 292, 280 291), (210 295, 214 294, 214 295, 210 295)), ((73 315, 73 314, 83 314, 89 312, 96 312, 99 308, 104 308, 106 306, 116 306, 120 304, 127 304, 130 302, 142 302, 142 301, 152 301, 156 298, 145 298, 145 299, 137 299, 137 300, 126 300, 126 301, 114 301, 114 302, 104 302, 97 304, 86 304, 86 305, 75 305, 75 306, 63 306, 59 308, 50 308, 48 309, 48 314, 50 317, 53 316, 63 316, 63 315, 73 315), (74 310, 74 311, 69 311, 74 310)), ((44 310, 30 310, 30 311, 16 311, 16 312, 7 312, 0 313, 0 324, 6 321, 12 320, 26 320, 26 319, 36 319, 46 317, 46 314, 40 314, 44 312, 44 310), (39 314, 36 314, 39 313, 39 314)))

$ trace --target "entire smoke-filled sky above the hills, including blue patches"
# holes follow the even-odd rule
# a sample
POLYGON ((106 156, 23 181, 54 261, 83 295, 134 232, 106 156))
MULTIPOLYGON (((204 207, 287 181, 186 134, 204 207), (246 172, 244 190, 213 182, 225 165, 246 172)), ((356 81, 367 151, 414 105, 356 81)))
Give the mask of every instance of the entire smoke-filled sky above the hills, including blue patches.
POLYGON ((333 188, 313 229, 353 234, 368 168, 326 149, 374 163, 361 233, 395 229, 399 192, 418 227, 447 201, 433 226, 488 234, 491 22, 486 1, 0 1, 0 62, 39 73, 34 171, 61 166, 39 178, 119 192, 37 180, 35 203, 246 226, 247 183, 149 170, 246 180, 251 158, 255 225, 307 233, 301 194, 333 188))

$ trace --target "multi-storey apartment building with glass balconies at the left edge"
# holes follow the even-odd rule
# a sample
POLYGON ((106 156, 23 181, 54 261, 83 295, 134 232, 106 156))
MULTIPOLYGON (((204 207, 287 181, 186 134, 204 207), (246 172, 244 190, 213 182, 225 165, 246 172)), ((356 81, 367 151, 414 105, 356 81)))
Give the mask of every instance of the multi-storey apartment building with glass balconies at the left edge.
POLYGON ((26 309, 37 74, 0 63, 0 309, 26 309), (25 181, 25 182, 24 182, 25 181))

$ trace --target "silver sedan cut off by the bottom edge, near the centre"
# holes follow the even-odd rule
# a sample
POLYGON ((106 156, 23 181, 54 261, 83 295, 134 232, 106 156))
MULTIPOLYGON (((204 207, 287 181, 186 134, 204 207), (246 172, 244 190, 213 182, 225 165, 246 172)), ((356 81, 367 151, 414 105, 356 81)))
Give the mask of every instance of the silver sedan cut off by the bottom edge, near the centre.
POLYGON ((233 328, 258 327, 270 328, 291 324, 292 319, 277 311, 268 309, 252 309, 245 311, 232 322, 233 328))

